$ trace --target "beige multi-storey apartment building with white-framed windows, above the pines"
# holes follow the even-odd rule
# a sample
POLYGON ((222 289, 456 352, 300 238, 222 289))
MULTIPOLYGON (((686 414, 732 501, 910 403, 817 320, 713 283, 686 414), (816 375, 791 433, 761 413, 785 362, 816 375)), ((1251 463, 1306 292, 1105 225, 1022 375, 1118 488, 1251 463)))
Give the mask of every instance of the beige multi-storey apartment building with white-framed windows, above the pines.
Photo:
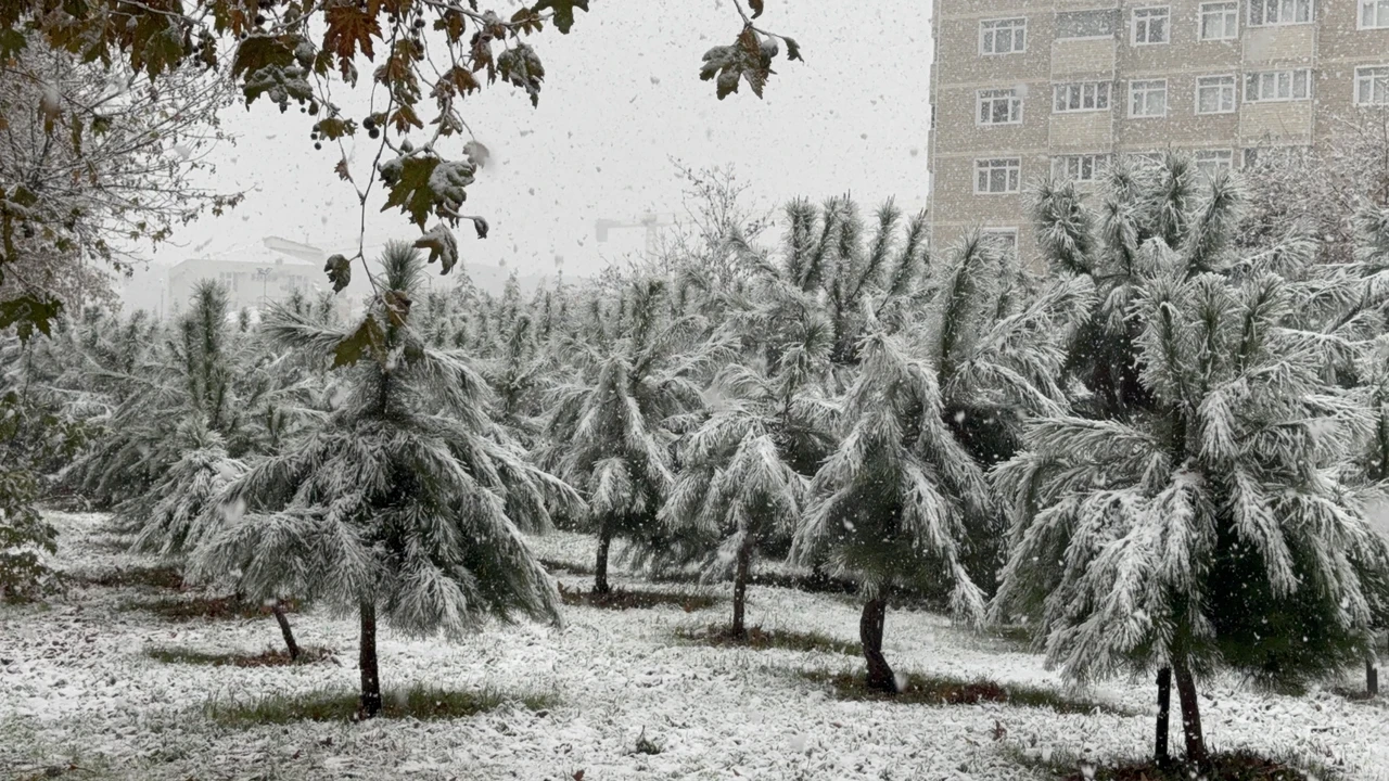
POLYGON ((1035 254, 1031 182, 1183 149, 1206 171, 1389 106, 1389 0, 933 0, 933 239, 1035 254))

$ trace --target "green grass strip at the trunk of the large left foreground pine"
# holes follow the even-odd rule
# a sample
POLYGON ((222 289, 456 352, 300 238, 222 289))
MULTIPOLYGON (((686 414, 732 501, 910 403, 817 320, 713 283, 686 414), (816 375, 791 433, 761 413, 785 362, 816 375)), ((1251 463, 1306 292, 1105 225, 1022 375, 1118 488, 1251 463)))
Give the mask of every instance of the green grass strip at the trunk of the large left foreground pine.
MULTIPOLYGON (((450 692, 417 685, 399 692, 383 692, 383 695, 381 718, 417 718, 419 721, 465 718, 508 703, 517 703, 543 714, 558 703, 558 698, 547 693, 507 693, 492 688, 450 692)), ((207 716, 219 724, 253 727, 296 721, 354 721, 358 705, 358 692, 338 689, 301 695, 265 695, 250 700, 211 700, 204 707, 207 716)))

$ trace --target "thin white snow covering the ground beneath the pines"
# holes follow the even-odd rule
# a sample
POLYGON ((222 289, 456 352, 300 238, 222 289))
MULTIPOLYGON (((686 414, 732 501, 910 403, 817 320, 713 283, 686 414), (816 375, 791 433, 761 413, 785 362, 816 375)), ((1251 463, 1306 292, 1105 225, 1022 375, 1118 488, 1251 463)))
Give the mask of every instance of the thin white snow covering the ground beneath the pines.
MULTIPOLYGON (((53 513, 60 566, 101 570, 135 560, 94 543, 99 514, 53 513)), ((533 541, 547 560, 586 564, 590 543, 556 534, 533 541)), ((568 588, 588 578, 561 575, 568 588)), ((615 582, 631 584, 628 577, 615 582)), ((676 586, 644 586, 676 588, 676 586)), ((714 589, 726 596, 728 586, 714 589)), ((419 778, 617 780, 950 780, 1035 778, 1017 749, 1120 757, 1151 739, 1151 687, 1117 681, 1088 692, 1135 716, 1058 716, 1043 709, 926 707, 838 702, 800 678, 858 663, 832 653, 713 649, 674 639, 678 627, 725 621, 710 610, 607 611, 571 607, 560 628, 496 625, 463 643, 382 632, 383 685, 540 691, 561 705, 519 707, 446 723, 379 720, 228 728, 210 698, 350 689, 357 684, 356 623, 318 611, 293 616, 306 645, 332 661, 275 668, 164 664, 153 646, 263 650, 279 642, 271 618, 167 623, 124 610, 136 589, 75 586, 47 609, 0 609, 0 770, 21 774, 76 764, 82 777, 149 780, 419 778), (1007 737, 995 739, 1001 724, 1007 737), (658 746, 638 753, 638 737, 658 746)), ((850 639, 850 598, 754 588, 750 618, 850 639)), ((1056 685, 1035 655, 953 628, 929 613, 888 616, 886 652, 899 670, 1056 685)), ((1389 778, 1389 709, 1325 692, 1306 698, 1207 687, 1203 716, 1215 748, 1250 746, 1340 763, 1349 778, 1389 778)), ((1179 724, 1174 718, 1174 739, 1179 724)))

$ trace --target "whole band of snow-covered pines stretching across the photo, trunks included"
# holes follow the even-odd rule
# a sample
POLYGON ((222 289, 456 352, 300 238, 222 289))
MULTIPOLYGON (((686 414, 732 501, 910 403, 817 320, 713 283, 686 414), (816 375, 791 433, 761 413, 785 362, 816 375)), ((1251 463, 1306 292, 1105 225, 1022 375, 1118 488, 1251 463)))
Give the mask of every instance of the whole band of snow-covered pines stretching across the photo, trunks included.
POLYGON ((76 311, 0 343, 7 404, 74 432, 29 463, 136 549, 360 621, 367 717, 378 625, 560 620, 525 539, 556 525, 596 536, 597 592, 615 557, 732 579, 733 638, 758 561, 851 579, 885 693, 903 599, 1022 624, 1070 681, 1157 674, 1156 750, 1175 684, 1196 764, 1217 671, 1374 659, 1389 207, 1326 252, 1257 181, 1118 158, 1038 188, 1038 268, 847 197, 788 204, 775 243, 696 181, 672 252, 531 295, 426 290, 397 243, 351 321, 303 295, 256 318, 213 282, 169 322, 76 311))

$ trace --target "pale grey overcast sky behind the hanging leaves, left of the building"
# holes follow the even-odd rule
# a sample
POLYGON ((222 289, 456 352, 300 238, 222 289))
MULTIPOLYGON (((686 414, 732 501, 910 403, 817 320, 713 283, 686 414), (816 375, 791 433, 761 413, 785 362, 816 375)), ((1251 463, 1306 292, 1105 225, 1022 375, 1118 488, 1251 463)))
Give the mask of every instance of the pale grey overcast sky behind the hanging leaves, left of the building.
MULTIPOLYGON (((465 117, 493 163, 469 188, 465 211, 485 215, 492 235, 478 240, 460 229, 464 263, 504 260, 522 274, 547 274, 563 256, 567 274, 592 274, 639 250, 642 231, 614 232, 600 245, 593 222, 681 211, 671 157, 694 168, 732 164, 767 206, 845 192, 865 208, 889 196, 908 211, 925 206, 929 3, 875 0, 850 14, 843 0, 767 0, 760 26, 797 39, 806 63, 779 58, 765 100, 745 85, 722 101, 699 81, 699 65, 710 46, 739 31, 726 0, 592 7, 571 35, 551 28, 535 39, 547 74, 539 108, 500 83, 468 97, 465 117)), ((213 161, 225 188, 249 190, 246 202, 183 228, 154 263, 236 257, 242 247, 264 257, 263 236, 354 249, 356 195, 332 171, 338 153, 314 150, 311 124, 268 101, 231 107, 225 129, 239 140, 213 161)), ((358 179, 375 149, 363 142, 363 158, 353 156, 358 179)), ((378 213, 381 203, 369 208, 368 246, 418 233, 400 213, 378 213)))

